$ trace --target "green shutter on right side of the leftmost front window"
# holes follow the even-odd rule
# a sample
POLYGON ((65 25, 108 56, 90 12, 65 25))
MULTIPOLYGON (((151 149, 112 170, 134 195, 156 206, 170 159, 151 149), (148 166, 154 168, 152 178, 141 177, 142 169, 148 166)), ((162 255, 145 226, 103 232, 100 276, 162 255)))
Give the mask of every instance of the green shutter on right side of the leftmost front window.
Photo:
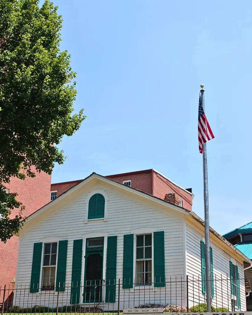
POLYGON ((66 254, 67 254, 67 240, 59 241, 56 288, 55 288, 56 292, 58 292, 59 283, 60 283, 60 292, 65 291, 66 254))

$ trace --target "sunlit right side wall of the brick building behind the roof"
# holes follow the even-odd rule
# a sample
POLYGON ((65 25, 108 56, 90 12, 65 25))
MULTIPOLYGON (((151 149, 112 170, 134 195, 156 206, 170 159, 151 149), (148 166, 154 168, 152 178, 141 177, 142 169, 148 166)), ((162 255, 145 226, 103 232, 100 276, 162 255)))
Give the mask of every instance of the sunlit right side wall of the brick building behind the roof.
POLYGON ((192 194, 174 185, 162 175, 153 172, 153 195, 164 199, 165 195, 169 194, 170 191, 183 201, 183 208, 192 211, 192 194))

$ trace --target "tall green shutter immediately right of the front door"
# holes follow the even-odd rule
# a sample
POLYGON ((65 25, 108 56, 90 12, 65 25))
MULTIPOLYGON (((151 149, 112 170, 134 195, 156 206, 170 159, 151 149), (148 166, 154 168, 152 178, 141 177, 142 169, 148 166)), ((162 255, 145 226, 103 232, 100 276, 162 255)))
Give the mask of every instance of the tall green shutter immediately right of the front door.
POLYGON ((117 236, 108 236, 105 302, 115 303, 116 301, 116 257, 117 236))

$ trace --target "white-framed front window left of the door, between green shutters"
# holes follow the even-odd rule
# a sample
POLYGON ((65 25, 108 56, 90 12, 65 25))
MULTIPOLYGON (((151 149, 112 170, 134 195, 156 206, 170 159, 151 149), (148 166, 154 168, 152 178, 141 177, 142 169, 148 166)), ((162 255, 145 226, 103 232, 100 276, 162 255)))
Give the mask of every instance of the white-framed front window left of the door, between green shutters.
POLYGON ((45 243, 42 270, 42 290, 54 290, 57 243, 45 243))

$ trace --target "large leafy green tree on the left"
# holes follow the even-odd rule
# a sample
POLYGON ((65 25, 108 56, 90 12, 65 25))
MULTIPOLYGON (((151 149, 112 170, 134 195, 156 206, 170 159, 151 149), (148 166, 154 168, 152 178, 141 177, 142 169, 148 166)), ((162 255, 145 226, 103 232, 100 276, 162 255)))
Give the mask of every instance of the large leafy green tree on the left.
POLYGON ((25 205, 3 189, 11 176, 51 174, 65 160, 55 145, 80 128, 70 55, 60 51, 61 16, 45 0, 0 0, 0 239, 23 224, 25 205), (32 171, 32 165, 36 171, 32 171), (11 215, 14 208, 17 215, 11 215))

